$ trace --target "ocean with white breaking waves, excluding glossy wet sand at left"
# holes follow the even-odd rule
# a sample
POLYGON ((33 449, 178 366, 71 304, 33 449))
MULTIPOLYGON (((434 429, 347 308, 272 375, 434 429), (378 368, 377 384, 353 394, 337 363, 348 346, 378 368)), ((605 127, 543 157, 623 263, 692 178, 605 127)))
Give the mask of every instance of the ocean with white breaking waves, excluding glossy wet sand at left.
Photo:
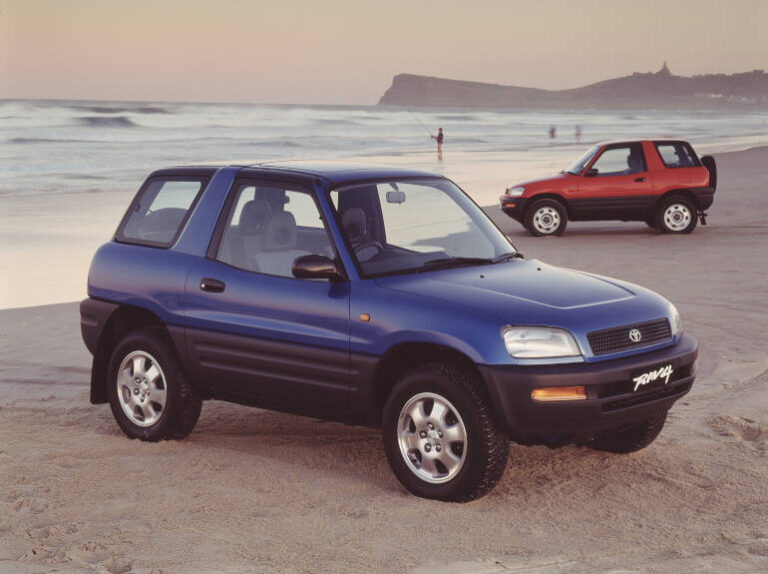
POLYGON ((686 139, 700 153, 743 149, 768 143, 768 113, 0 100, 0 197, 133 193, 171 165, 343 159, 438 171, 488 204, 590 143, 635 137, 686 139), (438 127, 443 162, 429 138, 438 127))

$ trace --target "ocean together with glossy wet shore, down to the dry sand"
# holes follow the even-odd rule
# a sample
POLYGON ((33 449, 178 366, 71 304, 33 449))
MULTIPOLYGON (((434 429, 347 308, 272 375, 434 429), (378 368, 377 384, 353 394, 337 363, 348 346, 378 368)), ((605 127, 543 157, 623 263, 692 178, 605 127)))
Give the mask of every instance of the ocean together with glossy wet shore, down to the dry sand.
POLYGON ((495 205, 507 186, 556 173, 597 141, 675 137, 699 153, 738 150, 768 143, 767 122, 766 113, 0 100, 0 309, 85 297, 93 253, 147 174, 163 167, 387 164, 444 174, 495 205), (429 138, 439 127, 442 161, 429 138))

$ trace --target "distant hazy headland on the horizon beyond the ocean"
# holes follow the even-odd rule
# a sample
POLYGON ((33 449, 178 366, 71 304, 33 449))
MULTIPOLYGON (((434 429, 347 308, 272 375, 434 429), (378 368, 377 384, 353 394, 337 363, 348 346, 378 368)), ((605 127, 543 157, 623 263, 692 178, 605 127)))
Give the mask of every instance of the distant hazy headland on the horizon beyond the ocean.
POLYGON ((768 109, 768 74, 675 76, 664 66, 571 90, 398 74, 380 106, 470 108, 768 109))

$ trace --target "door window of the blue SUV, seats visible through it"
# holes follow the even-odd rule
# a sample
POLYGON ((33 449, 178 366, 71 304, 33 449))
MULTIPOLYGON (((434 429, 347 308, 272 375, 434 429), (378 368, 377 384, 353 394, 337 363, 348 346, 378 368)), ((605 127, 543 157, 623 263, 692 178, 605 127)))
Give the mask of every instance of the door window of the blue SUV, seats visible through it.
POLYGON ((307 192, 242 183, 224 214, 216 259, 246 271, 293 278, 302 255, 333 257, 314 198, 307 192))

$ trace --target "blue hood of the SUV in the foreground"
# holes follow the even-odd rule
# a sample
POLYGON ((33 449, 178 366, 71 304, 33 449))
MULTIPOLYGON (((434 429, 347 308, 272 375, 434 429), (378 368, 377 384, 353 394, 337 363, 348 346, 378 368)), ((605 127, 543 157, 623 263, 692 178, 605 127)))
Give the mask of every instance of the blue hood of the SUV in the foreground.
POLYGON ((535 259, 384 277, 376 283, 442 300, 457 309, 494 315, 509 324, 574 331, 665 316, 667 305, 662 297, 642 287, 535 259))

